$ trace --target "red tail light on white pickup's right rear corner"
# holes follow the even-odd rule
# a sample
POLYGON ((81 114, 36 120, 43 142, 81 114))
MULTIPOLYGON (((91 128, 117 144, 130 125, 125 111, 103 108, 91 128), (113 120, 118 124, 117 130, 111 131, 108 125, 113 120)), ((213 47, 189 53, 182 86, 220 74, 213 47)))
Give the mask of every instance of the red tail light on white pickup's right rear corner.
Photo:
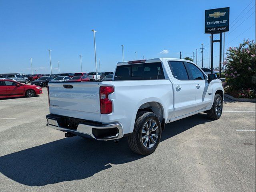
POLYGON ((110 114, 113 111, 112 101, 108 99, 108 95, 114 92, 114 87, 100 87, 100 113, 110 114))

